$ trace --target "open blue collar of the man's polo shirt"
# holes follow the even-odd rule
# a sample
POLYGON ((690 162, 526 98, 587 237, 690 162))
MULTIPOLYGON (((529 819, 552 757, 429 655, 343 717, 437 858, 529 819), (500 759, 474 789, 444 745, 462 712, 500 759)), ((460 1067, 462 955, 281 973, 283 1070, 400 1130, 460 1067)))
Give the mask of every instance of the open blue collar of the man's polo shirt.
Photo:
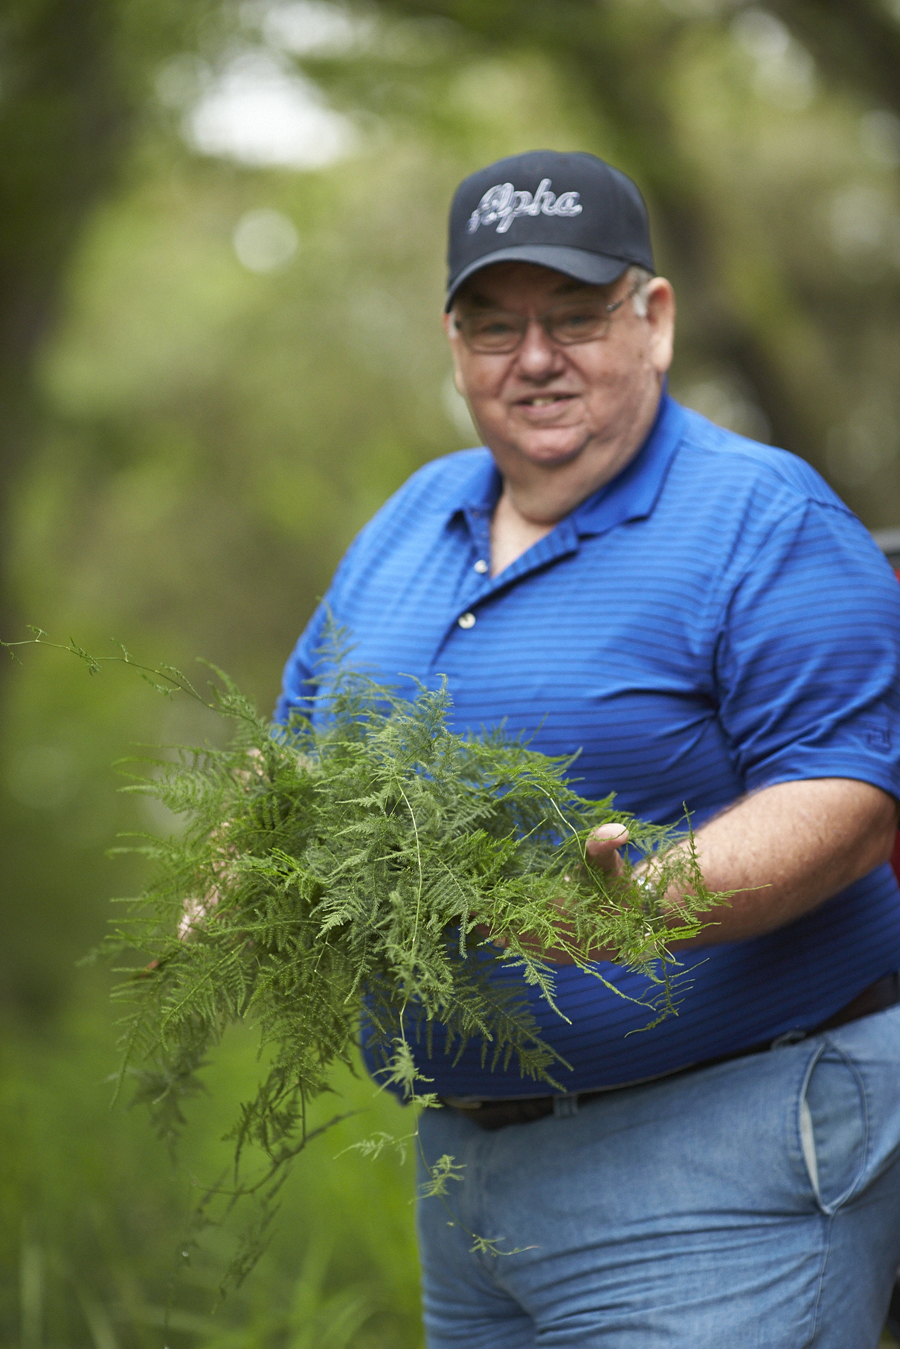
MULTIPOLYGON (((568 519, 578 534, 603 534, 626 519, 641 519, 652 514, 681 440, 685 420, 684 410, 664 393, 653 426, 634 459, 613 482, 606 483, 569 514, 568 519)), ((463 513, 470 529, 475 519, 490 519, 501 486, 497 465, 486 452, 463 484, 460 498, 449 514, 463 513)))

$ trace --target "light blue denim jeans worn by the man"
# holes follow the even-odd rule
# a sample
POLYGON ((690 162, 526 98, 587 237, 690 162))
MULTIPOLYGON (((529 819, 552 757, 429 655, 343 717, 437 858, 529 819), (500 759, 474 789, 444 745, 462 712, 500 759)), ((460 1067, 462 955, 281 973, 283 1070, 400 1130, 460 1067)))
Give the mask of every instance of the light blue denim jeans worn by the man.
POLYGON ((418 1203, 429 1349, 874 1349, 900 1263, 900 1008, 571 1103, 493 1133, 424 1112, 428 1164, 463 1164, 418 1203))

